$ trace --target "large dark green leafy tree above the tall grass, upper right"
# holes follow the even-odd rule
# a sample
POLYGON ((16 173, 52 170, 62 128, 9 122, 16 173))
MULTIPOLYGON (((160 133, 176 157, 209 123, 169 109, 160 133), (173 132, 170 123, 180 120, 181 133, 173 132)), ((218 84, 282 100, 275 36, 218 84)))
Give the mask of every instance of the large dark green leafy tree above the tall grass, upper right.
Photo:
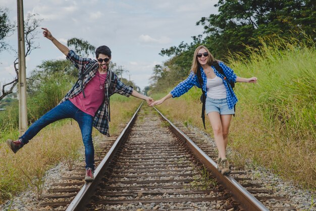
MULTIPOLYGON (((293 36, 302 30, 315 38, 315 3, 312 0, 220 0, 219 14, 201 18, 205 45, 217 57, 228 52, 247 53, 246 46, 257 48, 259 37, 293 36)), ((298 33, 298 39, 304 36, 298 33)))

